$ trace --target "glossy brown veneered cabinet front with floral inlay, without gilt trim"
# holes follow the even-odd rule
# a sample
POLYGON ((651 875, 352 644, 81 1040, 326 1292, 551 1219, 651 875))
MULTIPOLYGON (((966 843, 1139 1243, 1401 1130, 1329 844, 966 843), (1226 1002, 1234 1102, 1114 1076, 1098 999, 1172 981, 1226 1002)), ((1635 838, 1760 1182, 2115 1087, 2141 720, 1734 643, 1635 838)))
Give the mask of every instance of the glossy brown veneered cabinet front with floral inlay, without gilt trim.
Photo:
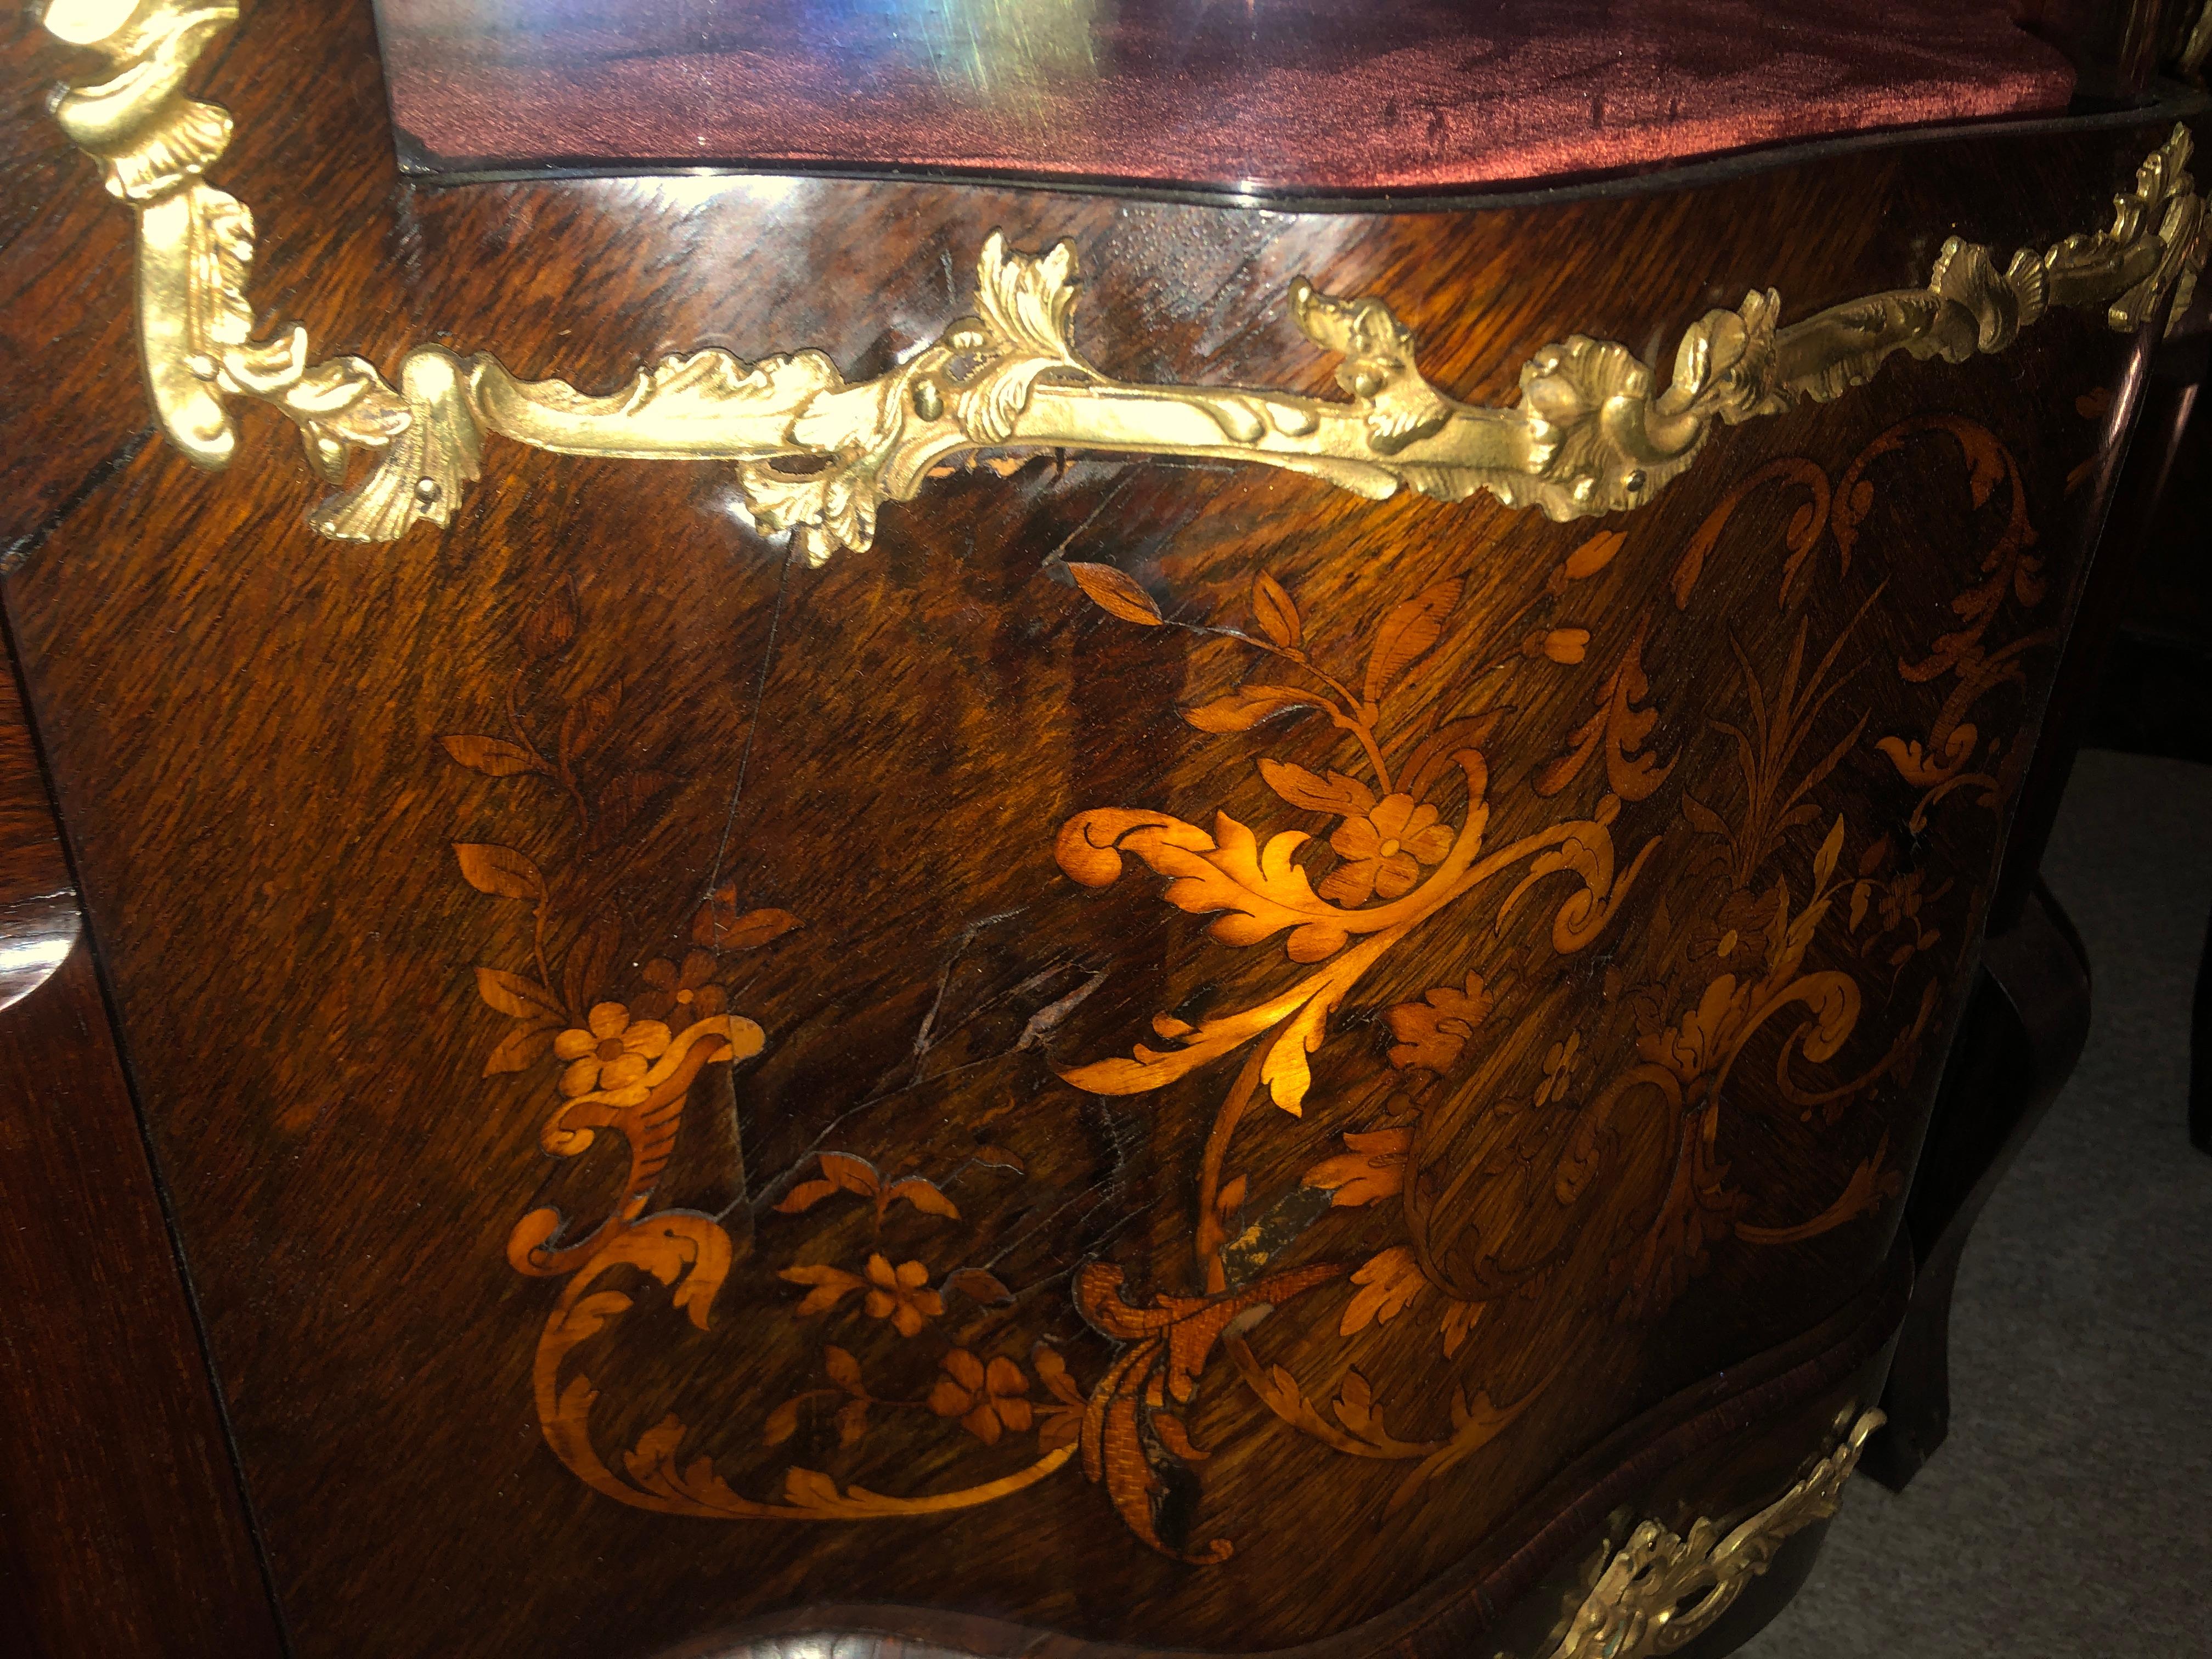
MULTIPOLYGON (((1597 524, 1009 456, 810 571, 712 467, 493 445, 449 531, 343 546, 276 422, 226 476, 144 442, 58 69, 7 49, 0 591, 296 1652, 856 1606, 1427 1652, 1402 1610, 1624 1425, 1885 1305, 2121 436, 2101 319, 1597 524)), ((1568 332, 1659 358, 2095 223, 2163 137, 1301 217, 420 190, 363 7, 257 7, 201 91, 263 305, 586 389, 880 372, 998 228, 1077 246, 1128 378, 1325 392, 1305 272, 1504 403, 1568 332)))

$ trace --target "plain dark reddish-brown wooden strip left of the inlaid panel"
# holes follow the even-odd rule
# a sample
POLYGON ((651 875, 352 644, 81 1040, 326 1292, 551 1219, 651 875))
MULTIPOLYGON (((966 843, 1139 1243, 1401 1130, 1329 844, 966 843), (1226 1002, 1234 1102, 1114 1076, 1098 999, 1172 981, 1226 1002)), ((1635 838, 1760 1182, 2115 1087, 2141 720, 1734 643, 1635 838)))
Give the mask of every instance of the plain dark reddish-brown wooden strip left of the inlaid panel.
POLYGON ((0 1652, 283 1652, 221 1405, 0 661, 0 1652))

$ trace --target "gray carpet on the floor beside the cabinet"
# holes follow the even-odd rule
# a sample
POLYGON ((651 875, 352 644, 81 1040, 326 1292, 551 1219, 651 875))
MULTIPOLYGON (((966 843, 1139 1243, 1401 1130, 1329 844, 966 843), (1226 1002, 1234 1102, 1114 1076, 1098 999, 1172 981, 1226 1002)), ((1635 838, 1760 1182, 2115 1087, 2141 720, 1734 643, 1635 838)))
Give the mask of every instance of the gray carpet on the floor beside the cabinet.
POLYGON ((2212 768, 2086 752, 2044 874, 2095 1024, 1966 1248, 1951 1438, 1902 1498, 1851 1482, 1750 1659, 2212 1655, 2212 1157, 2183 1099, 2212 768))

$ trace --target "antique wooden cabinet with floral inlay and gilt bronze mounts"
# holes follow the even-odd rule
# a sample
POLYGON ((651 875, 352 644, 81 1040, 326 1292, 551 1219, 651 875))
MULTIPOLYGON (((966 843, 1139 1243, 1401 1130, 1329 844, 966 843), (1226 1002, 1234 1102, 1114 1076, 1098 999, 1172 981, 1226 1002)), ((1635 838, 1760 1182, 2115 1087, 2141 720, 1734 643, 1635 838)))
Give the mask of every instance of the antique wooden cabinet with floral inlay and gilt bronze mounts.
POLYGON ((1429 195, 422 184, 363 4, 44 22, 13 1650, 1778 1606, 2199 104, 1429 195))

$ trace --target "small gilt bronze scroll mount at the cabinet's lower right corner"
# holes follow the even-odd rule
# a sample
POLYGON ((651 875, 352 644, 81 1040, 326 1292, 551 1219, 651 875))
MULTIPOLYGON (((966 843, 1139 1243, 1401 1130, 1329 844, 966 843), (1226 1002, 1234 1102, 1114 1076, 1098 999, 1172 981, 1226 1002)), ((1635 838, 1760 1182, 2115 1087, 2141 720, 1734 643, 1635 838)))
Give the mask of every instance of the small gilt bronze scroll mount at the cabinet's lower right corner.
MULTIPOLYGON (((1838 1431, 1845 1422, 1849 1411, 1838 1431)), ((1843 1506, 1843 1484, 1882 1422, 1880 1411, 1863 1411, 1803 1480, 1728 1533, 1710 1517, 1688 1537, 1652 1520, 1637 1526, 1610 1559, 1599 1557, 1597 1582, 1544 1659, 1648 1659, 1710 1630, 1783 1542, 1843 1506)))

